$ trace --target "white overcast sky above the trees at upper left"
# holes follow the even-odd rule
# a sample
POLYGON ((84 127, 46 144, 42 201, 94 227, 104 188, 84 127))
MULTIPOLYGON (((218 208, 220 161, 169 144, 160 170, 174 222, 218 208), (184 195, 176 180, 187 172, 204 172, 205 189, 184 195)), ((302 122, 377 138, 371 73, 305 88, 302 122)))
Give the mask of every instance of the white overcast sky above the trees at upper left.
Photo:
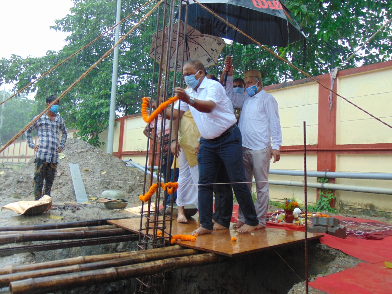
MULTIPOLYGON (((11 54, 39 57, 48 50, 60 50, 67 35, 50 30, 49 26, 69 14, 70 7, 73 7, 72 0, 3 0, 0 58, 9 58, 11 54)), ((12 85, 6 86, 6 90, 11 88, 12 85)))

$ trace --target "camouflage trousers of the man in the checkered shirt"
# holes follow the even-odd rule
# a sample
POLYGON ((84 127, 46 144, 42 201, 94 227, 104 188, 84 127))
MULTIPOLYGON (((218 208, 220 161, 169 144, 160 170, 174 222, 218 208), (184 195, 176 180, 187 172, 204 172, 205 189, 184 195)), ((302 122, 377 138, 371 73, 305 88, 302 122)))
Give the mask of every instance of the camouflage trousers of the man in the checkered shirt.
POLYGON ((40 158, 35 158, 35 172, 34 172, 34 200, 38 200, 42 197, 42 187, 45 189, 44 195, 50 196, 50 191, 52 190, 52 185, 54 181, 54 176, 56 176, 57 162, 50 163, 45 162, 40 158))

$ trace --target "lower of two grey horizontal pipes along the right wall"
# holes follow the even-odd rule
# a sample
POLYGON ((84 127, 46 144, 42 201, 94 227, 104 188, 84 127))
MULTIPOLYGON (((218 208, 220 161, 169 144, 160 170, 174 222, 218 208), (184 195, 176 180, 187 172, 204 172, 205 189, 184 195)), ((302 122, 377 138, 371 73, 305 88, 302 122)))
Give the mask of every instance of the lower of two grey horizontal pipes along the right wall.
MULTIPOLYGON (((268 183, 269 183, 269 185, 284 185, 284 186, 303 187, 303 183, 299 182, 299 181, 269 180, 268 183)), ((331 184, 331 183, 307 183, 307 187, 308 188, 316 188, 316 189, 330 189, 330 190, 340 190, 340 191, 392 195, 392 189, 367 187, 367 186, 350 186, 350 185, 340 185, 340 184, 331 184)))

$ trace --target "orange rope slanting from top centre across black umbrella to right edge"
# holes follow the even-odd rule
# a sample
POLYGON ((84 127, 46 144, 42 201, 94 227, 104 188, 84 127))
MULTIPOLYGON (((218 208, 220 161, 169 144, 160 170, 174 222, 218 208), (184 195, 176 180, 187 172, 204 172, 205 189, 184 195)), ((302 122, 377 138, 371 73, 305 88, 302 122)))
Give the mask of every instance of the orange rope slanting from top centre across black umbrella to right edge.
POLYGON ((217 18, 219 18, 221 21, 223 21, 225 24, 229 25, 230 27, 232 27, 233 29, 235 29, 236 31, 238 31, 239 33, 243 34, 245 37, 249 38, 249 40, 252 40, 252 42, 256 43, 257 45, 259 45, 260 47, 262 47, 263 49, 267 50, 269 53, 271 53, 272 55, 274 55, 275 57, 277 57, 279 60, 283 61, 284 63, 290 65, 291 67, 293 67, 294 69, 296 69, 297 71, 299 71, 300 73, 304 74, 305 76, 307 76, 308 78, 310 78, 311 80, 313 80, 314 82, 318 83, 319 85, 321 85, 322 87, 324 87, 325 89, 327 89, 328 91, 331 91, 332 93, 336 94, 336 96, 339 96, 340 98, 342 98, 343 100, 345 100, 346 102, 350 103, 351 105, 357 107, 359 110, 363 111, 364 113, 370 115, 372 118, 378 120, 379 122, 383 123, 384 125, 390 127, 392 129, 392 125, 389 125, 386 122, 383 122, 382 120, 380 120, 379 118, 377 118, 376 116, 374 116, 371 113, 368 113, 365 109, 359 107, 358 105, 356 105, 355 103, 352 103, 351 101, 349 101, 347 98, 344 98, 343 96, 339 95, 338 93, 336 93, 334 90, 328 88, 327 86, 325 86, 324 84, 322 84, 320 81, 316 80, 314 77, 310 76, 308 73, 305 73, 303 70, 299 69, 298 67, 296 67, 295 65, 291 64, 289 61, 285 60, 284 58, 280 57, 278 54, 276 54, 274 51, 272 51, 271 49, 265 47, 264 45, 261 45, 259 42, 257 42, 256 40, 254 40, 252 37, 248 36, 247 34, 245 34, 243 31, 241 31, 240 29, 238 29, 237 27, 235 27, 234 25, 230 24, 229 22, 227 22, 227 20, 225 20, 224 18, 220 17, 219 15, 217 15, 216 13, 214 13, 214 11, 212 11, 211 9, 209 9, 208 7, 204 6, 203 4, 197 2, 196 0, 193 0, 194 2, 196 2, 197 4, 199 4, 201 7, 203 7, 205 10, 209 11, 212 15, 216 16, 217 18))

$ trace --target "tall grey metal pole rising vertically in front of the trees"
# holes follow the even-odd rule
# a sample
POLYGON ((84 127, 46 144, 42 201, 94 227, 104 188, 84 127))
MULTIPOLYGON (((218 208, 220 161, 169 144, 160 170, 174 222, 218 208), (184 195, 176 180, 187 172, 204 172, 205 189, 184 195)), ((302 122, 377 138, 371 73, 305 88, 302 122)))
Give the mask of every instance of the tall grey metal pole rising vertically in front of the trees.
MULTIPOLYGON (((116 24, 121 20, 121 0, 117 0, 117 13, 116 13, 116 24)), ((114 31, 114 45, 118 43, 120 36, 120 25, 116 26, 114 31)), ((113 142, 114 142, 114 119, 116 118, 116 94, 117 94, 117 72, 118 72, 118 47, 114 48, 113 55, 113 71, 112 71, 112 89, 110 96, 110 111, 109 111, 109 127, 107 132, 107 153, 113 154, 113 142)))

